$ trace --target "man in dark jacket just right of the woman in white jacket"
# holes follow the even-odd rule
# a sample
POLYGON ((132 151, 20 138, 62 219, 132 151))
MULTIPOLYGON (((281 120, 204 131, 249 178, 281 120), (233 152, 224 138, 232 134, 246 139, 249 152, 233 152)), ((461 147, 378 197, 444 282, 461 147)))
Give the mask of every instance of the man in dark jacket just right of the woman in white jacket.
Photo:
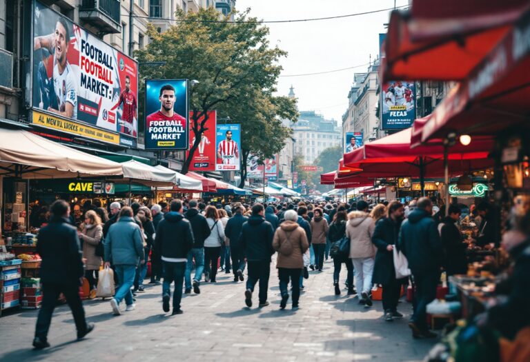
POLYGON ((230 242, 230 257, 232 259, 232 266, 234 272, 234 281, 237 279, 244 281, 243 272, 245 270, 245 252, 243 245, 239 243, 239 235, 241 235, 241 229, 243 224, 248 221, 248 217, 243 216, 242 205, 234 206, 234 216, 226 223, 224 229, 224 235, 230 242))

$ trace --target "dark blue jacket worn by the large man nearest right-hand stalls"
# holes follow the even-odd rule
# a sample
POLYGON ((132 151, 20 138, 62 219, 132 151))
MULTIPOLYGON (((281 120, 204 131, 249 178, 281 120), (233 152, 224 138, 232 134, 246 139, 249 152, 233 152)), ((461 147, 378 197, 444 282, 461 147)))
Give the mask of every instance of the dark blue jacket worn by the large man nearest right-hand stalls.
POLYGON ((436 223, 425 210, 415 208, 401 225, 397 248, 413 274, 440 272, 444 248, 436 223))

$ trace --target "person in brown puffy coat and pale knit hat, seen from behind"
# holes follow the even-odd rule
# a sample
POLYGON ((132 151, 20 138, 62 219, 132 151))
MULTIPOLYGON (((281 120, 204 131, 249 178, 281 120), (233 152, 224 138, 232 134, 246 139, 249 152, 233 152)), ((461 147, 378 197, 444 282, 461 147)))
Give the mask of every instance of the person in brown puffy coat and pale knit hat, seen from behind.
POLYGON ((287 210, 285 221, 276 229, 273 248, 278 252, 276 268, 278 268, 279 291, 282 302, 279 308, 285 309, 289 294, 287 286, 289 279, 293 285, 293 309, 298 308, 300 299, 300 276, 304 269, 304 253, 309 248, 306 232, 297 224, 298 214, 295 210, 287 210))

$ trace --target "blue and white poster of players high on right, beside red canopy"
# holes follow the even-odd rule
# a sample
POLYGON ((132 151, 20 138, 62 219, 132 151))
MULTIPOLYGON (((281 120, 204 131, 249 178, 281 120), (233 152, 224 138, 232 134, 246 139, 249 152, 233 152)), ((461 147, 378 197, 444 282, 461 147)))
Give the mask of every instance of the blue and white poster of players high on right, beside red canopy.
POLYGON ((413 82, 390 81, 382 85, 382 129, 402 130, 416 118, 413 82))

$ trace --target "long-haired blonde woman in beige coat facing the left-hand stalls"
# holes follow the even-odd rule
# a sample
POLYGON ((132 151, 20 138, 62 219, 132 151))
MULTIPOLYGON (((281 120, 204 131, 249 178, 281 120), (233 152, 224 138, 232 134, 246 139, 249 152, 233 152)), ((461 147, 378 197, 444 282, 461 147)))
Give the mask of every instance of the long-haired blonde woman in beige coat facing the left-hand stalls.
POLYGON ((94 210, 87 211, 83 231, 79 233, 79 240, 83 243, 83 257, 86 259, 85 277, 90 284, 90 299, 96 296, 97 278, 101 266, 101 257, 96 255, 96 247, 101 243, 102 237, 101 219, 94 210))

